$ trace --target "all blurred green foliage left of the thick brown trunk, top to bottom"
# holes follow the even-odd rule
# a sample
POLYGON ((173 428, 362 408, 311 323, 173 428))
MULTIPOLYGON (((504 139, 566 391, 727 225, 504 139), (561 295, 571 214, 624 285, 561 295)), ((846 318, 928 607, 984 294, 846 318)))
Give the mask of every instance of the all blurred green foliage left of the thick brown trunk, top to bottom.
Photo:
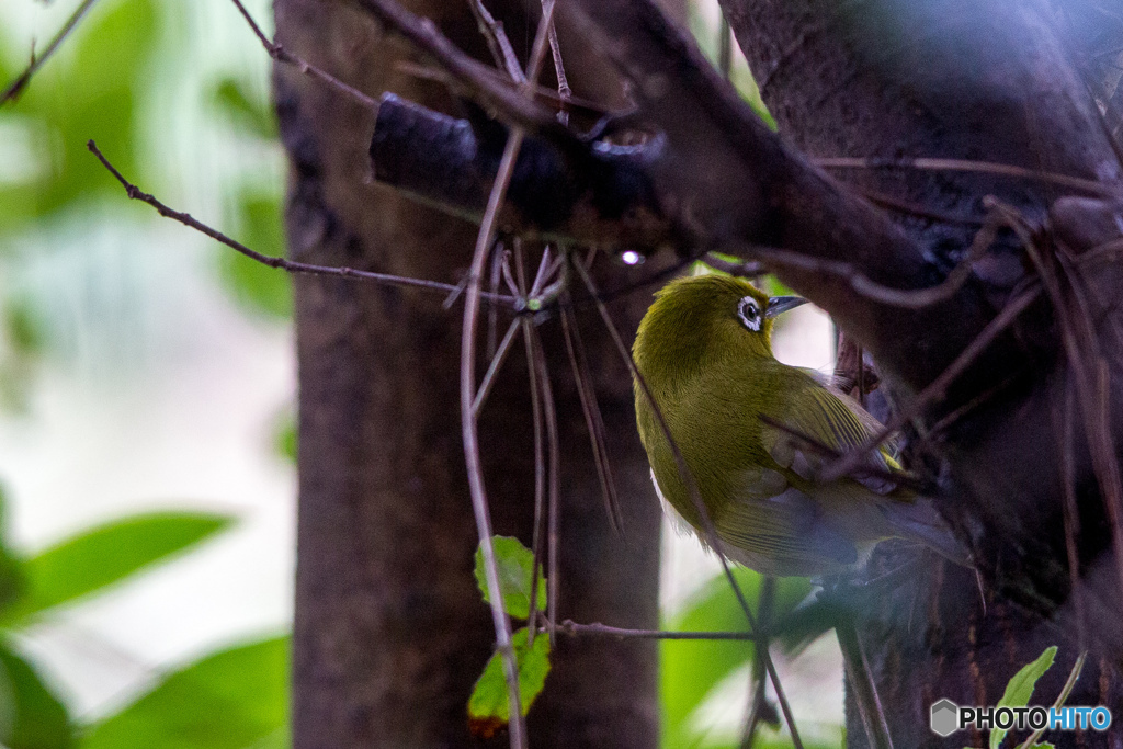
MULTIPOLYGON (((86 150, 86 141, 97 140, 121 173, 144 189, 156 191, 162 177, 179 177, 177 172, 184 171, 185 165, 168 158, 175 148, 153 137, 150 111, 158 86, 167 82, 161 75, 185 58, 188 37, 182 27, 170 24, 180 12, 159 0, 101 0, 20 97, 0 108, 0 404, 4 407, 21 404, 38 374, 38 358, 54 345, 40 316, 54 303, 49 291, 29 291, 10 281, 34 261, 34 253, 55 252, 52 227, 86 226, 91 219, 139 227, 158 220, 150 209, 126 199, 86 150), (103 211, 110 205, 112 211, 103 211)), ((17 75, 28 57, 26 40, 10 38, 4 26, 0 20, 0 85, 17 75)), ((202 103, 226 115, 230 137, 279 148, 268 102, 247 91, 252 86, 244 82, 223 79, 202 103)), ((282 195, 282 184, 247 180, 236 185, 232 199, 225 201, 228 211, 221 228, 261 252, 281 254, 282 195)), ((228 250, 216 252, 214 257, 218 276, 238 302, 273 319, 290 314, 284 273, 228 250)), ((286 423, 291 430, 292 419, 286 423)), ((283 441, 294 447, 294 433, 283 441)), ((147 513, 85 529, 42 552, 22 556, 11 549, 0 522, 0 745, 9 749, 286 747, 286 637, 240 645, 173 669, 117 713, 85 724, 75 720, 40 667, 18 647, 30 628, 194 549, 230 524, 230 518, 208 513, 147 513)))

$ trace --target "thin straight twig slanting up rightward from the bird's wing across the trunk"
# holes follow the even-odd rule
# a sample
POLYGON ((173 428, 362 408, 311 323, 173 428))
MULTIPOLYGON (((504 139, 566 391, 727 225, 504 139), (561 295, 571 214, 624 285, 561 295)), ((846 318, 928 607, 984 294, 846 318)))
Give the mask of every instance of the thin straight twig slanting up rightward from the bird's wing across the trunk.
POLYGON ((894 433, 896 433, 902 427, 904 427, 909 421, 917 415, 920 415, 924 409, 926 409, 932 403, 943 400, 948 387, 953 383, 959 375, 967 369, 968 366, 979 354, 982 354, 993 341, 998 337, 1002 331, 1004 331, 1026 308, 1038 298, 1041 293, 1040 284, 1035 284, 1026 291, 1022 292, 1010 302, 1006 307, 995 316, 990 322, 987 323, 985 328, 975 337, 967 348, 965 348, 956 359, 948 365, 948 367, 940 373, 940 376, 933 380, 928 387, 922 390, 916 398, 909 403, 907 408, 902 409, 897 412, 893 419, 889 420, 885 428, 882 429, 876 435, 868 437, 859 447, 848 451, 841 458, 829 466, 824 466, 822 473, 820 474, 820 481, 831 482, 837 478, 841 478, 847 474, 851 473, 861 465, 861 462, 866 459, 871 450, 877 449, 885 440, 889 439, 894 433))

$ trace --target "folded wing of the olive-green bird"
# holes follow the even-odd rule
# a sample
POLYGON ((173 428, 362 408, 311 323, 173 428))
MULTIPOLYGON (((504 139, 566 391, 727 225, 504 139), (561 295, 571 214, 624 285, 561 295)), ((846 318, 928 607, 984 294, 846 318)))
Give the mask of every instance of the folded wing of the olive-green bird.
MULTIPOLYGON (((853 399, 823 385, 806 373, 788 368, 787 398, 772 412, 765 412, 760 437, 765 449, 783 468, 801 478, 814 481, 823 465, 833 459, 821 449, 841 455, 858 449, 880 424, 853 399)), ((885 474, 900 469, 888 449, 871 450, 861 467, 878 475, 855 476, 867 488, 887 494, 896 488, 885 474)))

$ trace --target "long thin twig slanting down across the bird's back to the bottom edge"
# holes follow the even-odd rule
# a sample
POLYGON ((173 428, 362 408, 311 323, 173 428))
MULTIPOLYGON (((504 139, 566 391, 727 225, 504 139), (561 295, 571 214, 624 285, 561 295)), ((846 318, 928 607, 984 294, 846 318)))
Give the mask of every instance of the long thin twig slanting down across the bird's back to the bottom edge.
MULTIPOLYGON (((581 263, 574 263, 573 267, 577 270, 578 275, 581 275, 582 281, 585 283, 585 287, 593 298, 596 311, 600 313, 601 320, 604 321, 604 327, 608 328, 609 336, 612 338, 613 344, 615 344, 621 358, 628 365, 628 369, 631 373, 632 378, 639 385, 640 391, 643 393, 643 398, 647 399, 647 402, 651 405, 656 420, 659 422, 659 429, 663 431, 664 438, 670 446, 672 455, 675 457, 678 475, 686 484, 691 500, 693 501, 695 510, 702 520, 702 530, 705 533, 706 542, 718 555, 722 573, 725 575, 725 579, 729 581, 730 587, 737 596, 737 602, 741 606, 741 611, 745 613, 745 619, 749 624, 749 631, 759 632, 756 623, 756 616, 752 615, 752 610, 749 608, 749 603, 745 599, 745 593, 741 591, 741 586, 737 584, 737 578, 733 577, 733 570, 729 566, 729 559, 725 558, 724 552, 721 550, 721 541, 718 537, 718 531, 714 528, 713 520, 710 518, 710 513, 706 511, 705 503, 702 501, 697 482, 695 482, 694 475, 686 465, 686 459, 683 457, 682 450, 678 449, 678 445, 675 441, 674 436, 670 433, 670 427, 667 426, 667 420, 664 418, 663 410, 659 408, 655 396, 651 394, 651 389, 648 387, 647 380, 645 380, 643 375, 640 374, 639 368, 636 366, 636 359, 632 358, 631 351, 628 350, 628 346, 620 337, 620 331, 617 329, 615 323, 612 321, 612 317, 609 314, 608 308, 601 300, 600 294, 596 291, 596 285, 593 283, 593 278, 588 275, 588 271, 586 271, 585 266, 581 263)), ((795 749, 803 749, 803 741, 800 740, 800 732, 795 727, 795 718, 792 714, 792 706, 787 701, 787 696, 784 694, 784 687, 779 682, 779 675, 776 673, 776 665, 773 663, 772 655, 767 650, 763 650, 763 654, 765 668, 768 670, 768 678, 772 681, 773 688, 776 689, 776 698, 779 701, 780 710, 784 713, 784 720, 787 722, 788 730, 792 733, 792 743, 795 745, 795 749)))

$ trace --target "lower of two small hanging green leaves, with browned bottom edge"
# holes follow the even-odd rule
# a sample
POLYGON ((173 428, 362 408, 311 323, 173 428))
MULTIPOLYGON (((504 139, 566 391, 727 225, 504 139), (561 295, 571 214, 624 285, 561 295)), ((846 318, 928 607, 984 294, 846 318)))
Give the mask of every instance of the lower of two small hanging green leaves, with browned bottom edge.
MULTIPOLYGON (((535 697, 546 685, 546 675, 550 670, 550 640, 545 634, 535 638, 532 645, 527 645, 528 630, 520 629, 512 637, 515 659, 519 661, 519 700, 522 714, 526 715, 535 697)), ((468 725, 474 736, 491 738, 511 720, 511 703, 508 697, 506 677, 503 674, 503 656, 495 652, 484 673, 480 675, 476 687, 468 698, 468 725)))

